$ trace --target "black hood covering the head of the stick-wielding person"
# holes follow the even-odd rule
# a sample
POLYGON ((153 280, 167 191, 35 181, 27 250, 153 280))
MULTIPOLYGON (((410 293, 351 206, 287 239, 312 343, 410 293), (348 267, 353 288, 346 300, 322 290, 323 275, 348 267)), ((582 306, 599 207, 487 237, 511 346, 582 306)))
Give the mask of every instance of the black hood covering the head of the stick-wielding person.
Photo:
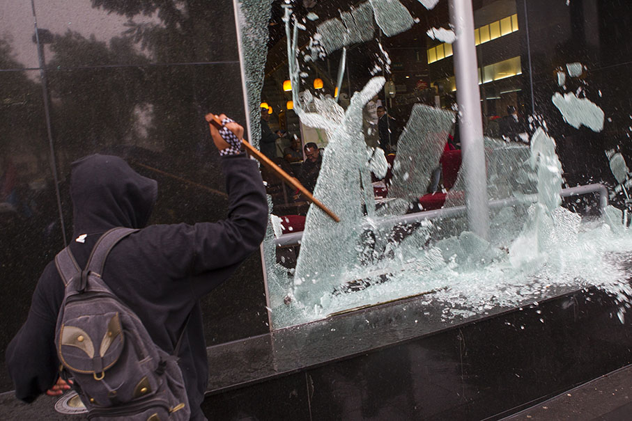
POLYGON ((72 163, 74 235, 114 227, 143 228, 153 209, 158 184, 119 157, 94 154, 72 163))

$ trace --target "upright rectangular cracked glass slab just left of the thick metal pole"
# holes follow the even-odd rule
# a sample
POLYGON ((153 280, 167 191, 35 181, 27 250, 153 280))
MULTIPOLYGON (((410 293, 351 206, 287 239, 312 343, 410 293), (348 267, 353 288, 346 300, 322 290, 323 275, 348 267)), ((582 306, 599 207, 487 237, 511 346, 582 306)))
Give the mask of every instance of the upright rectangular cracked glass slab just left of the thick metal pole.
POLYGON ((454 113, 415 104, 398 141, 390 198, 416 199, 428 191, 431 173, 454 124, 454 113))

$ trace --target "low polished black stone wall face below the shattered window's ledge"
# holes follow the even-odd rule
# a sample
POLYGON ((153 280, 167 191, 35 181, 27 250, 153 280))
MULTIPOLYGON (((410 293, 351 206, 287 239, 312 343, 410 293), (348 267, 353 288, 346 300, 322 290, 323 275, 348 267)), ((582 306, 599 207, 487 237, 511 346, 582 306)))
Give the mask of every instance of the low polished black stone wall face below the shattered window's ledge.
MULTIPOLYGON (((211 393, 203 410, 217 420, 498 420, 632 363, 632 324, 618 310, 603 292, 564 294, 211 393)), ((343 332, 332 335, 344 343, 343 332)))

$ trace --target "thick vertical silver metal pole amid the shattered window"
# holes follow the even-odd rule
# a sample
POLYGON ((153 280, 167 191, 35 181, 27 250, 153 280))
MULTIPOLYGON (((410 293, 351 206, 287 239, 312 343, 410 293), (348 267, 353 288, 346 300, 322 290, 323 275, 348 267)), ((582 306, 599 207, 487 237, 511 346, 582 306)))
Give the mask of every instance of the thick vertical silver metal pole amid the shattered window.
POLYGON ((474 13, 471 0, 450 0, 450 22, 456 33, 454 74, 458 103, 459 134, 465 175, 465 207, 470 230, 488 239, 489 209, 481 95, 474 42, 474 13))

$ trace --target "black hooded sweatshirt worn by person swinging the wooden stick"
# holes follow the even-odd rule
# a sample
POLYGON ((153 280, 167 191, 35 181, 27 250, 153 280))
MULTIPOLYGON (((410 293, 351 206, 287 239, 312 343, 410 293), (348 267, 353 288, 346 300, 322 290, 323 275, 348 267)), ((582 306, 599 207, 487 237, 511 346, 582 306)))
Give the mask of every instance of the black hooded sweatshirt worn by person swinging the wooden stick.
MULTIPOLYGON (((169 354, 191 314, 179 356, 192 419, 203 419, 200 404, 208 381, 199 299, 259 248, 268 220, 256 163, 245 154, 221 160, 229 215, 217 223, 143 228, 157 197, 157 183, 118 157, 96 154, 80 159, 72 164, 70 180, 74 212, 70 250, 77 262, 84 267, 95 242, 110 228, 143 228, 112 249, 103 280, 169 354), (87 237, 80 242, 84 234, 87 237)), ((50 262, 38 280, 26 323, 6 350, 15 394, 25 402, 32 402, 56 382, 59 361, 54 333, 63 292, 63 282, 50 262)))

